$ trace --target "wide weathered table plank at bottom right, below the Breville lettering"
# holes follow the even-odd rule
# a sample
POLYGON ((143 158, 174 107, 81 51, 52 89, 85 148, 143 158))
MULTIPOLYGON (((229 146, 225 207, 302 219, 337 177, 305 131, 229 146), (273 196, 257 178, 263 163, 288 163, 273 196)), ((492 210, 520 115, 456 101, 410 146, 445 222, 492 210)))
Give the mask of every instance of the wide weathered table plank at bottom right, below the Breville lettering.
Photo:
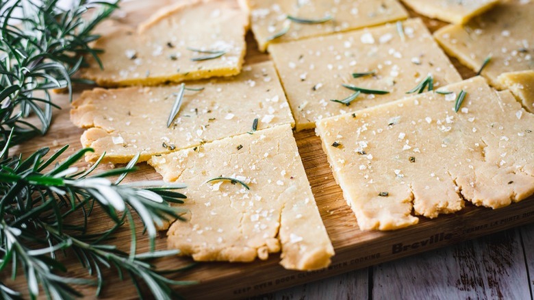
POLYGON ((510 229, 379 264, 373 272, 372 297, 530 299, 527 282, 519 231, 510 229))

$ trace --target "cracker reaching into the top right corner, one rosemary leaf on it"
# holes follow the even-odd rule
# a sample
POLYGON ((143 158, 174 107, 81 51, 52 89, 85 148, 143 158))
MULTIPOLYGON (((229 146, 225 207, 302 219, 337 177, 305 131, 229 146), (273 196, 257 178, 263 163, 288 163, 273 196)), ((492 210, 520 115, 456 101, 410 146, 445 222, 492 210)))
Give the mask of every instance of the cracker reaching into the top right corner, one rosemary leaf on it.
POLYGON ((475 72, 491 57, 481 74, 504 89, 497 79, 501 73, 534 70, 532 16, 534 1, 501 1, 465 25, 443 27, 434 36, 449 55, 475 72))

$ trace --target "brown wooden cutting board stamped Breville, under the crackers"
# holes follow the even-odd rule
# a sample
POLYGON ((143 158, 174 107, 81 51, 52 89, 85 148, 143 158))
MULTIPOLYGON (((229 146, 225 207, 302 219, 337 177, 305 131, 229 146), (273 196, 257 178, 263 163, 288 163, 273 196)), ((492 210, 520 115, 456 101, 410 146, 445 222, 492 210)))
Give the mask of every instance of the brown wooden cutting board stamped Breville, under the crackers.
MULTIPOLYGON (((136 24, 147 18, 161 5, 171 2, 173 1, 163 0, 157 2, 157 5, 154 5, 154 1, 125 2, 119 12, 123 17, 118 18, 118 20, 123 23, 136 24), (125 12, 125 16, 123 12, 125 12)), ((419 16, 414 12, 410 12, 410 14, 411 16, 419 16)), ((423 20, 432 32, 445 24, 424 17, 423 20)), ((105 28, 103 26, 101 30, 105 32, 105 28)), ((247 44, 247 64, 269 59, 268 55, 257 51, 251 34, 247 36, 247 44)), ((461 66, 457 60, 451 60, 464 78, 474 75, 468 68, 461 66)), ((78 97, 79 92, 76 92, 74 98, 78 97)), ((66 95, 55 95, 54 100, 63 109, 54 112, 55 118, 50 132, 47 136, 35 138, 18 147, 16 151, 30 153, 41 147, 50 147, 51 151, 54 151, 63 145, 70 144, 71 148, 66 152, 71 154, 81 148, 79 136, 83 130, 74 127, 69 121, 68 98, 66 95)), ((477 208, 466 203, 466 208, 457 214, 440 216, 433 220, 421 218, 418 225, 407 229, 395 232, 362 232, 357 227, 353 212, 343 199, 342 191, 335 184, 319 138, 315 136, 313 130, 299 132, 294 136, 320 214, 335 248, 336 255, 331 266, 313 272, 287 271, 278 264, 278 255, 271 255, 271 258, 266 261, 248 264, 200 263, 188 271, 170 275, 171 279, 199 281, 199 284, 196 285, 177 288, 181 295, 188 299, 229 299, 259 295, 534 222, 534 197, 531 197, 500 210, 477 208)), ((80 163, 79 166, 86 166, 86 164, 80 163)), ((102 166, 102 168, 110 167, 113 166, 102 166)), ((161 177, 146 164, 141 164, 137 173, 127 177, 128 181, 147 179, 161 179, 161 177)), ((90 226, 95 232, 109 229, 111 225, 112 223, 99 212, 90 216, 90 226)), ((138 224, 138 232, 140 230, 141 226, 138 224)), ((126 227, 121 229, 112 243, 127 251, 129 249, 129 230, 126 227)), ((139 238, 138 251, 147 251, 147 249, 147 238, 139 238)), ((166 249, 164 233, 157 240, 157 249, 166 249)), ((86 271, 75 263, 72 253, 65 258, 65 262, 68 275, 86 277, 86 271)), ((173 269, 190 263, 191 260, 187 258, 164 258, 157 262, 157 266, 173 269)), ((104 274, 110 279, 105 281, 102 298, 135 299, 137 297, 136 290, 129 279, 120 282, 111 273, 115 273, 115 271, 110 270, 104 274)), ((16 290, 26 289, 25 279, 21 272, 14 282, 4 277, 8 277, 8 274, 0 275, 0 280, 8 286, 12 286, 16 290)), ((88 296, 94 295, 95 292, 95 288, 90 286, 77 286, 77 290, 88 296)))

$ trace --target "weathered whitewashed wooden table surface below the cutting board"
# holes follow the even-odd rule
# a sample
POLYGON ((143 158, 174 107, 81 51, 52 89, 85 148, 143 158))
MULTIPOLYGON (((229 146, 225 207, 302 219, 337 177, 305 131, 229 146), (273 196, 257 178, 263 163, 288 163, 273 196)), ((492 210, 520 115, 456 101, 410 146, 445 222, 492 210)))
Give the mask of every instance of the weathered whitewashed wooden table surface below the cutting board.
POLYGON ((255 299, 533 299, 534 225, 255 299))

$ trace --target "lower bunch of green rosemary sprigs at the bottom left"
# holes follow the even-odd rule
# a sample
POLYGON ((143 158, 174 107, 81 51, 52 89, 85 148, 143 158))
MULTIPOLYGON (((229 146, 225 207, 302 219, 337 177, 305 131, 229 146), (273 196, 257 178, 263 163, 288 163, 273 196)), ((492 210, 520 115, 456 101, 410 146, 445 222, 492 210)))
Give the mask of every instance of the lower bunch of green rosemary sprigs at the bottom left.
POLYGON ((3 162, 0 170, 0 251, 4 256, 0 271, 11 264, 12 275, 16 277, 16 266, 20 263, 25 271, 31 297, 39 295, 39 286, 42 286, 47 297, 77 297, 80 294, 72 288, 72 284, 94 282, 55 274, 66 271, 66 267, 55 257, 55 252, 73 249, 79 264, 88 270, 89 275, 96 271, 99 286, 97 292, 103 285, 101 266, 109 268, 114 265, 132 273, 133 280, 142 279, 155 297, 170 299, 172 290, 169 285, 176 282, 155 276, 157 272, 153 266, 142 262, 141 258, 174 253, 135 255, 136 234, 131 214, 140 216, 153 249, 157 234, 155 225, 181 218, 184 210, 173 208, 170 203, 183 203, 185 195, 173 190, 185 186, 173 184, 161 188, 161 182, 119 184, 127 173, 135 170, 138 156, 125 168, 89 177, 96 166, 80 172, 73 164, 92 149, 77 151, 59 163, 60 155, 66 149, 67 146, 63 147, 47 159, 44 157, 49 149, 43 148, 25 160, 15 157, 3 162), (55 166, 45 171, 52 165, 55 166), (120 175, 115 183, 106 178, 115 175, 120 175), (95 205, 116 225, 102 234, 87 234, 88 217, 95 205), (71 219, 68 216, 80 222, 67 221, 71 219), (130 255, 118 251, 112 245, 101 243, 123 224, 125 216, 128 216, 133 228, 133 251, 130 255), (42 235, 36 236, 36 232, 42 232, 42 235))

